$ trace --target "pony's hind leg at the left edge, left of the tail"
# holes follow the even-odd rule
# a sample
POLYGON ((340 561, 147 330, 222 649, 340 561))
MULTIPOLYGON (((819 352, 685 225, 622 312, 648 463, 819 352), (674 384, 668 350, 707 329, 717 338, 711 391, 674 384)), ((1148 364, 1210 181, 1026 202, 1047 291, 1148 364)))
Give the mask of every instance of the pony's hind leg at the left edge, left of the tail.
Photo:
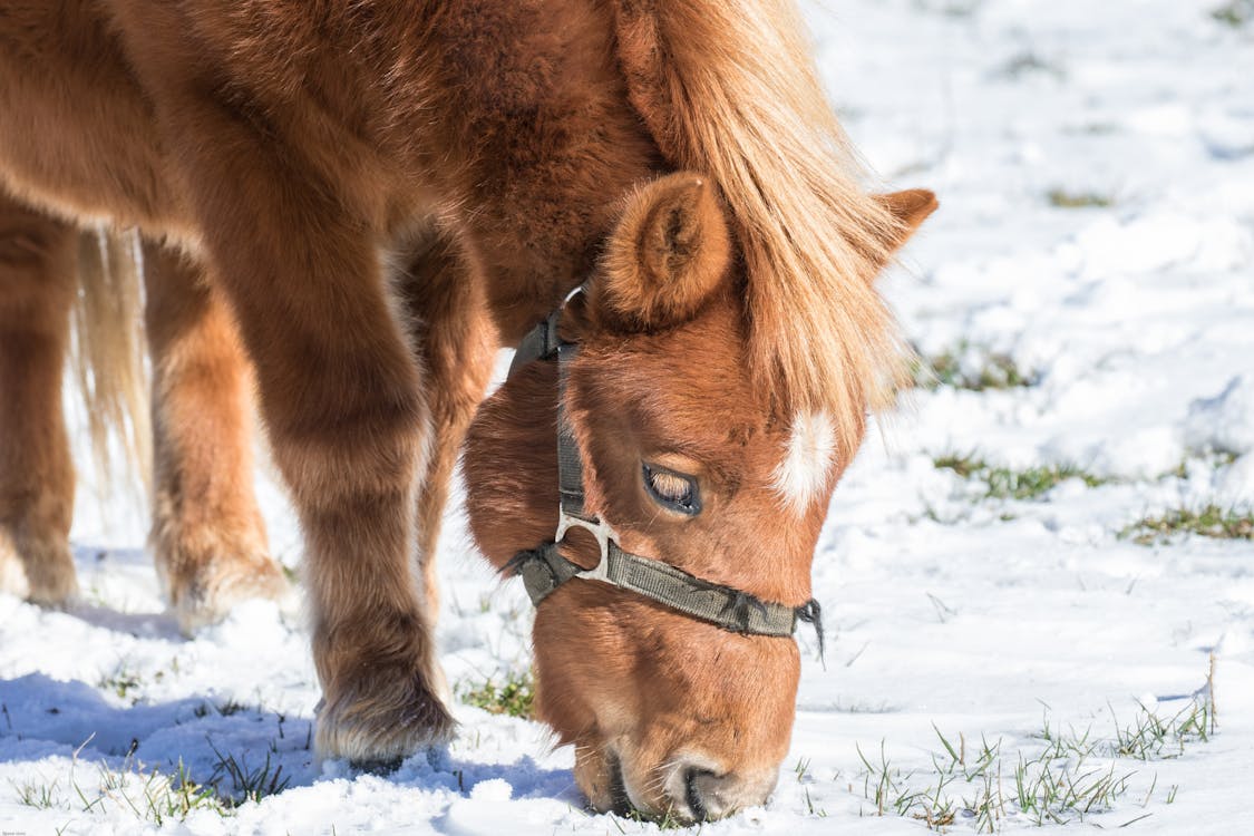
POLYGON ((61 412, 75 241, 71 227, 0 194, 0 589, 45 604, 76 589, 61 412))

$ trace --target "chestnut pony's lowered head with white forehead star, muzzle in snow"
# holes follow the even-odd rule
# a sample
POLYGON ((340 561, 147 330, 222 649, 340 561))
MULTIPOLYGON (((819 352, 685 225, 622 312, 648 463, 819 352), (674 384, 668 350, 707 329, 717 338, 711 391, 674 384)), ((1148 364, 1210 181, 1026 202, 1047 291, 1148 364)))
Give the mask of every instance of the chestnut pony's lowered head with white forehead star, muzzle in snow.
MULTIPOLYGON (((935 208, 923 191, 878 201, 895 218, 885 253, 935 208)), ((562 338, 578 345, 563 406, 586 506, 624 551, 800 607, 867 402, 853 417, 790 411, 760 385, 736 237, 697 174, 636 191, 586 292, 562 312, 562 338)), ((470 526, 497 567, 554 539, 557 400, 557 363, 534 361, 472 426, 470 526)), ((583 568, 601 559, 582 530, 562 554, 583 568)), ((591 579, 544 598, 533 637, 537 713, 574 745, 576 780, 596 808, 717 818, 774 788, 800 673, 791 638, 732 632, 591 579)))

